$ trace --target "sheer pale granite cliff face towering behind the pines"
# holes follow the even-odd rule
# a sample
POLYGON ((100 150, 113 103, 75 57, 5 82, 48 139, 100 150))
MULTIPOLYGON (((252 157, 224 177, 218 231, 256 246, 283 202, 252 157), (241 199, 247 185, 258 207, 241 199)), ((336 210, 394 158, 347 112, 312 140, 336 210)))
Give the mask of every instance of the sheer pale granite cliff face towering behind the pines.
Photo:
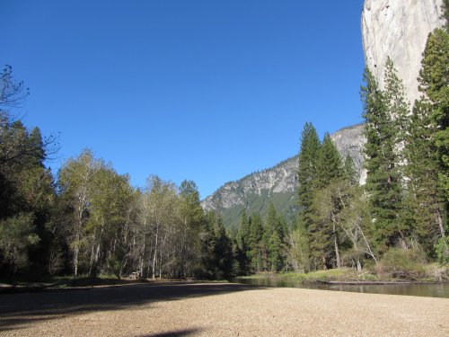
POLYGON ((443 0, 365 0, 365 64, 383 87, 385 62, 392 58, 411 103, 420 95, 417 77, 427 35, 444 24, 442 4, 443 0))

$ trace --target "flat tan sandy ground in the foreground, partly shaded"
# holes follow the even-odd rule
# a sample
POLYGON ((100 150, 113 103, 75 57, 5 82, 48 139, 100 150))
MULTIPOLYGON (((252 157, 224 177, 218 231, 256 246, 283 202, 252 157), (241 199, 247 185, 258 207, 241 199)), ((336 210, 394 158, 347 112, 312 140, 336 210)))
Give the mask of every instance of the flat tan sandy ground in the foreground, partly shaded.
POLYGON ((221 283, 0 294, 0 336, 449 336, 449 299, 221 283))

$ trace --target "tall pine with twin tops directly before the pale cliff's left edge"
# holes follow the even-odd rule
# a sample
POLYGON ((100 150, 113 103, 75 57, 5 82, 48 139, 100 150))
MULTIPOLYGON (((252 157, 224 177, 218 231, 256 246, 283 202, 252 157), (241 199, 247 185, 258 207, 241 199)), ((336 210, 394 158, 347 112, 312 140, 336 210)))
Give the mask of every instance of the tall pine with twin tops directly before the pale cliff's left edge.
POLYGON ((406 240, 409 229, 400 217, 402 209, 401 135, 403 120, 393 112, 403 112, 401 83, 387 62, 386 87, 382 91, 374 76, 365 70, 361 88, 365 119, 365 190, 369 195, 374 221, 375 244, 379 252, 406 240), (399 83, 397 83, 399 81, 399 83), (395 122, 396 121, 396 122, 395 122), (400 128, 398 128, 400 126, 400 128))

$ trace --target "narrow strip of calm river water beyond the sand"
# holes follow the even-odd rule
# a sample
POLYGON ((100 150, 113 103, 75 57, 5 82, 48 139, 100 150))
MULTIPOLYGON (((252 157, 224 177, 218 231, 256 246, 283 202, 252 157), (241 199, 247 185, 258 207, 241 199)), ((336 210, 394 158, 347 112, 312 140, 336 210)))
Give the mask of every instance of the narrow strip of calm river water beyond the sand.
POLYGON ((449 283, 438 284, 386 284, 386 285, 348 285, 348 284, 322 284, 322 283, 300 283, 291 279, 232 279, 233 282, 251 284, 263 287, 287 287, 287 288, 309 288, 321 290, 351 291, 357 293, 406 295, 422 297, 445 297, 449 298, 449 283))

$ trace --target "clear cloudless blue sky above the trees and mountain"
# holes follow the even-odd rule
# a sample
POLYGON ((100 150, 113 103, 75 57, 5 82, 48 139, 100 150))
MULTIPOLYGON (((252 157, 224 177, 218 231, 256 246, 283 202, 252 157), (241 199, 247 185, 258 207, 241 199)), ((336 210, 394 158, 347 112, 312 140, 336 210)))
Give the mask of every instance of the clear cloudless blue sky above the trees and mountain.
POLYGON ((0 65, 20 111, 59 134, 54 171, 84 147, 129 173, 197 182, 201 197, 361 121, 363 0, 0 0, 0 65))

